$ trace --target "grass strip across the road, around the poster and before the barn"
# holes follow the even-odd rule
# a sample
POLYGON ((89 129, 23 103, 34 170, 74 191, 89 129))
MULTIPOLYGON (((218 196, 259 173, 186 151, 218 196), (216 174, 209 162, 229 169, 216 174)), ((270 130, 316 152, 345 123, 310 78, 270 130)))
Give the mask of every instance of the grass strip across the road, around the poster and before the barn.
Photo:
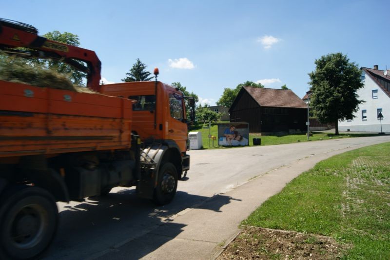
MULTIPOLYGON (((212 136, 216 136, 218 138, 218 129, 216 124, 212 124, 211 129, 203 129, 202 124, 191 126, 189 129, 190 132, 200 131, 202 133, 202 141, 203 141, 203 149, 217 149, 224 148, 222 146, 218 147, 218 140, 210 140, 209 144, 209 133, 212 136), (211 131, 209 131, 211 130, 211 131)), ((351 138, 351 137, 364 137, 364 136, 377 136, 378 134, 340 134, 336 136, 330 133, 313 133, 313 135, 309 138, 311 141, 315 140, 329 140, 329 139, 338 139, 338 138, 351 138)), ((261 145, 274 145, 274 144, 286 144, 293 143, 297 141, 305 142, 308 141, 307 134, 292 134, 285 136, 260 136, 259 134, 249 134, 249 145, 253 146, 253 139, 261 138, 261 145)))

